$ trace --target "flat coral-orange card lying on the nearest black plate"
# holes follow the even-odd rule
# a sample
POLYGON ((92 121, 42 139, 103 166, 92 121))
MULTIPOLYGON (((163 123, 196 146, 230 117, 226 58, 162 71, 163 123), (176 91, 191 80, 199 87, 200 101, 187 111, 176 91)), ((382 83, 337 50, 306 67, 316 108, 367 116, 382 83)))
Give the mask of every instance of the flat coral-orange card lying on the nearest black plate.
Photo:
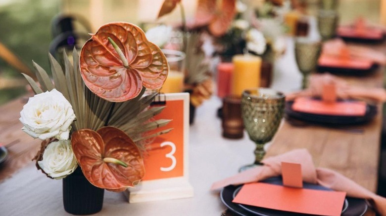
POLYGON ((284 187, 268 183, 244 184, 234 203, 281 211, 340 216, 346 192, 284 187))

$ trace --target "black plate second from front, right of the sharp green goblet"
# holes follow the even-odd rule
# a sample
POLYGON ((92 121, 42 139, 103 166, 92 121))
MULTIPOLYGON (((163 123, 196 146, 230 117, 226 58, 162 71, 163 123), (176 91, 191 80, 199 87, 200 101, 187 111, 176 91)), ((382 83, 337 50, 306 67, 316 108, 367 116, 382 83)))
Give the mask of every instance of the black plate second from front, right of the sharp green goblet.
POLYGON ((293 101, 286 102, 285 112, 291 118, 326 125, 362 124, 372 120, 377 115, 377 107, 367 104, 363 116, 322 115, 298 112, 292 109, 293 101))

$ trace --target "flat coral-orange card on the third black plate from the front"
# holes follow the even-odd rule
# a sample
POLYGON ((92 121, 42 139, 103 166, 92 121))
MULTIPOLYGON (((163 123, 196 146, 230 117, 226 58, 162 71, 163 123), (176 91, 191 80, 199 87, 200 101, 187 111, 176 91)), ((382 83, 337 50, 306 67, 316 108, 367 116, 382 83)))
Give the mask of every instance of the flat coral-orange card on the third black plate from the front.
POLYGON ((373 66, 373 64, 374 62, 368 59, 337 58, 336 56, 329 56, 326 54, 322 54, 318 61, 318 65, 321 67, 348 68, 360 70, 369 70, 373 66))

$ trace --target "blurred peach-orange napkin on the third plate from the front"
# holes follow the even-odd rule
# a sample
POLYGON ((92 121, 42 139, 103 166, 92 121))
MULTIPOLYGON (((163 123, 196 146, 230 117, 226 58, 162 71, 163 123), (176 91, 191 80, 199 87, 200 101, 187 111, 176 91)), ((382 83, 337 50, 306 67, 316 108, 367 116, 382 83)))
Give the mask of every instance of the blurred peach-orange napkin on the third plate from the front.
POLYGON ((331 67, 338 67, 341 64, 340 67, 342 68, 347 68, 347 65, 350 66, 351 64, 350 68, 355 68, 358 65, 359 68, 365 68, 373 63, 385 65, 386 55, 368 47, 347 45, 340 38, 324 42, 319 59, 320 65, 332 64, 331 67))

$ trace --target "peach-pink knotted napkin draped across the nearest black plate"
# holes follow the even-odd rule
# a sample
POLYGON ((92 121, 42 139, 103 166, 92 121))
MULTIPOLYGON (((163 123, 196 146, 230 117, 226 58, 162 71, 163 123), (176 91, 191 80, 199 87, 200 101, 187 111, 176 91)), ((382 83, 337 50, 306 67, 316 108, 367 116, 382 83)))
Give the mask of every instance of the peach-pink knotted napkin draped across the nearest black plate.
POLYGON ((345 191, 349 197, 366 199, 376 212, 381 216, 386 216, 386 198, 365 189, 335 171, 315 168, 312 157, 306 149, 295 149, 282 155, 266 158, 262 162, 263 166, 251 168, 235 176, 214 182, 211 190, 217 190, 231 184, 238 185, 280 176, 282 174, 282 162, 299 163, 301 164, 303 181, 320 184, 337 191, 345 191))

